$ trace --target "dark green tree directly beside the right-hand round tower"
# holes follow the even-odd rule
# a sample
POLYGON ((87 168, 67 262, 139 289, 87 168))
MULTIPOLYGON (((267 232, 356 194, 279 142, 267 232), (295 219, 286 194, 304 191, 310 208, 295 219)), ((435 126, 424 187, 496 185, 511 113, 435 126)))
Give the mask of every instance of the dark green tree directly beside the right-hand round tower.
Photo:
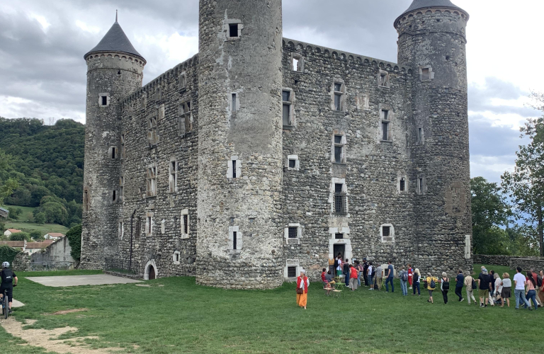
POLYGON ((472 195, 472 243, 476 254, 509 254, 509 239, 501 227, 512 216, 497 183, 483 177, 470 180, 472 195))

